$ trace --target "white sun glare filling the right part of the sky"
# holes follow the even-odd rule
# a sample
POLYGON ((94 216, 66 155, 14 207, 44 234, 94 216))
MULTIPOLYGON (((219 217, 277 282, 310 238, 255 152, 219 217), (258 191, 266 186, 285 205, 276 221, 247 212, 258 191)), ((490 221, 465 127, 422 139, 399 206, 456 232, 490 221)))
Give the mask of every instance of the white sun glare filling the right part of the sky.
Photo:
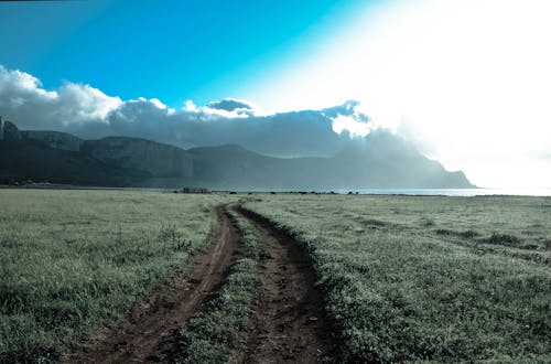
POLYGON ((549 186, 550 15, 547 1, 380 2, 245 97, 294 109, 359 99, 479 185, 549 186))

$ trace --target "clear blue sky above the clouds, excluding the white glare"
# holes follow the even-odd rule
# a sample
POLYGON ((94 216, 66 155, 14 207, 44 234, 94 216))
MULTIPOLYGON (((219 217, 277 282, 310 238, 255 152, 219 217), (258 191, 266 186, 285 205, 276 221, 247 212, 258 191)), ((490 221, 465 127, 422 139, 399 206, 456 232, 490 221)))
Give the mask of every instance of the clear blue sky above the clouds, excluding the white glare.
POLYGON ((44 86, 90 84, 123 99, 205 104, 346 22, 366 1, 43 1, 0 3, 0 62, 44 86), (14 36, 15 35, 15 36, 14 36))

